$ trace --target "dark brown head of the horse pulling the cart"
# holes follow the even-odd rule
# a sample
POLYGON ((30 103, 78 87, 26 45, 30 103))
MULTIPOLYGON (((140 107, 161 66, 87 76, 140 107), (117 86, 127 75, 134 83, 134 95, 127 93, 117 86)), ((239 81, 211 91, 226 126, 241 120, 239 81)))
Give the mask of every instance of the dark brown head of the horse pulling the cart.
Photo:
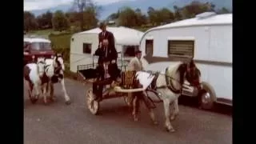
POLYGON ((201 72, 198 70, 193 59, 191 59, 189 62, 183 62, 180 66, 178 66, 178 71, 180 72, 181 84, 183 84, 184 78, 186 78, 187 82, 190 82, 190 85, 196 87, 200 86, 201 72))

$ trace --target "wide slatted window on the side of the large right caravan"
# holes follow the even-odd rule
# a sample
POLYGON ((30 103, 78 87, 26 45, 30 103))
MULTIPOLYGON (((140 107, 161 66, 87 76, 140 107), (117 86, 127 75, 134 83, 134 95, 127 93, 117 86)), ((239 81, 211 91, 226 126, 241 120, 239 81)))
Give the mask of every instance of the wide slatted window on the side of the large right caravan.
POLYGON ((169 40, 168 55, 194 58, 194 41, 169 40))

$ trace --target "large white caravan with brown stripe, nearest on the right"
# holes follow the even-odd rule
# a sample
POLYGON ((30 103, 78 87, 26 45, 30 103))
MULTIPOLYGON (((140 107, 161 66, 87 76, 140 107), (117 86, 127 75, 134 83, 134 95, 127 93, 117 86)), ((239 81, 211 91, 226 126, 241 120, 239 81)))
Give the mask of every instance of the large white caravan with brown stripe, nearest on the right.
MULTIPOLYGON (((195 18, 147 30, 140 46, 146 70, 165 70, 175 61, 194 58, 202 73, 204 89, 200 103, 210 109, 214 102, 232 106, 232 14, 206 12, 195 18)), ((182 94, 190 93, 184 88, 182 94)))

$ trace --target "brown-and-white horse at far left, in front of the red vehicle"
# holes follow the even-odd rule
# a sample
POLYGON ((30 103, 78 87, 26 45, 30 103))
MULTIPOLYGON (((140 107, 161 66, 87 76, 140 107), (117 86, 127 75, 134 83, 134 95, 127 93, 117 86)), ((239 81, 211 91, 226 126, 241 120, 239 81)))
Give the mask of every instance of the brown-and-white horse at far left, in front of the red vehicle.
POLYGON ((38 101, 41 90, 44 102, 46 102, 46 88, 48 78, 46 78, 45 75, 45 65, 45 58, 38 58, 37 63, 28 63, 26 66, 24 66, 24 79, 26 82, 26 87, 28 88, 27 90, 30 101, 32 103, 38 101), (35 91, 35 95, 33 94, 33 90, 35 91))

